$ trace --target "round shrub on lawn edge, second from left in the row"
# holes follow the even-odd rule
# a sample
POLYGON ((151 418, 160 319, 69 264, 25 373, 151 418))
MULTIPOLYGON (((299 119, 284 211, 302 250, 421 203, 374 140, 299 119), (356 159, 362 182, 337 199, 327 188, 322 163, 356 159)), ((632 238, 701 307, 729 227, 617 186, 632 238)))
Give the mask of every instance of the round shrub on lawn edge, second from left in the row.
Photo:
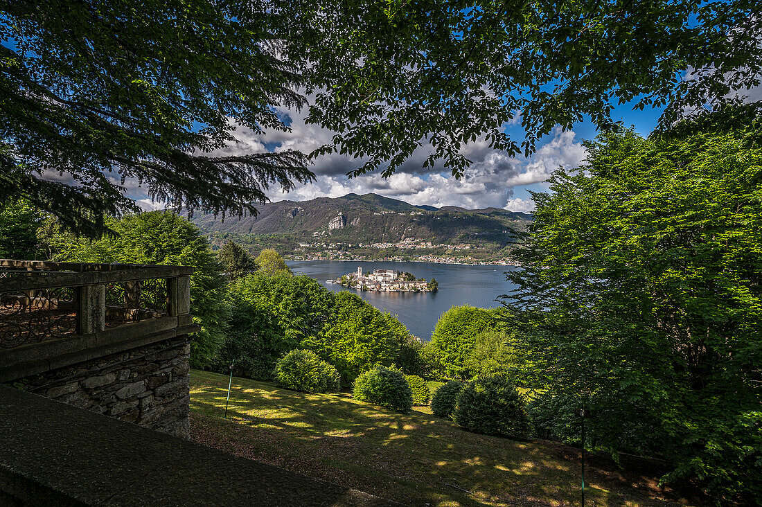
POLYGON ((354 380, 354 399, 367 401, 399 412, 413 408, 413 392, 402 371, 375 367, 354 380))

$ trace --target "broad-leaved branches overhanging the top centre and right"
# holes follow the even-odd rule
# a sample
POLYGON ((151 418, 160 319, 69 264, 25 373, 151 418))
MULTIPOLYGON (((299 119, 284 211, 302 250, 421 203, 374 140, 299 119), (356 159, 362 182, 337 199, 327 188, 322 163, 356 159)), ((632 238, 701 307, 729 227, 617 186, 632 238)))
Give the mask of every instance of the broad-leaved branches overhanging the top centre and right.
POLYGON ((323 151, 366 157, 352 175, 391 175, 423 146, 424 168, 441 160, 457 177, 469 165, 462 147, 477 139, 532 152, 557 125, 585 117, 610 127, 613 106, 627 102, 666 106, 670 126, 757 85, 762 68, 751 0, 303 8, 304 23, 285 27, 283 54, 314 86, 309 119, 337 132, 323 151), (525 135, 514 139, 504 125, 519 119, 525 135))

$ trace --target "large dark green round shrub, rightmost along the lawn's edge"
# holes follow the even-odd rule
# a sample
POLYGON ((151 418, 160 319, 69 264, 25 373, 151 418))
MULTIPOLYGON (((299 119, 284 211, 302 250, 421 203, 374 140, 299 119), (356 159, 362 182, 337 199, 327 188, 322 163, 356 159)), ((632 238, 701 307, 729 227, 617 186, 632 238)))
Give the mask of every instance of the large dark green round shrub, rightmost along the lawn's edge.
POLYGON ((485 377, 472 380, 459 393, 455 424, 475 433, 523 439, 530 433, 529 417, 511 380, 485 377))

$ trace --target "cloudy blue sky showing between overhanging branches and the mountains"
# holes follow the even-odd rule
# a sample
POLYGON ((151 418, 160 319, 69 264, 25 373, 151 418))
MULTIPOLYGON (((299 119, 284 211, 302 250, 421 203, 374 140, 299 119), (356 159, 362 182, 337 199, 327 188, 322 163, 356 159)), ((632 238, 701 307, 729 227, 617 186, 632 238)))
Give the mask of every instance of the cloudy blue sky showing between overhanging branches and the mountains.
MULTIPOLYGON (((333 135, 330 130, 305 123, 306 109, 281 109, 278 112, 290 124, 289 132, 267 131, 261 136, 248 128, 238 127, 234 134, 238 143, 219 150, 216 154, 232 156, 281 149, 311 152, 330 142, 333 135)), ((613 111, 612 118, 623 121, 627 126, 634 125, 639 133, 647 135, 655 128, 659 114, 661 111, 632 111, 631 107, 624 105, 613 111)), ((517 140, 523 139, 523 130, 518 121, 507 125, 505 130, 517 140)), ((389 178, 382 178, 378 173, 347 178, 346 173, 359 167, 362 159, 331 154, 315 159, 311 168, 316 175, 314 183, 298 185, 288 193, 271 188, 267 196, 271 201, 308 201, 315 197, 341 197, 349 193, 372 192, 416 205, 460 206, 467 209, 498 207, 531 212, 534 203, 530 191, 547 191, 545 181, 559 165, 566 168, 581 165, 587 156, 582 140, 593 139, 595 135, 596 131, 589 122, 582 122, 566 131, 556 127, 537 143, 536 152, 529 158, 511 158, 506 152, 490 149, 484 140, 476 140, 463 148, 472 165, 459 180, 453 178, 449 171, 442 171, 441 166, 428 170, 421 168, 429 153, 426 146, 418 149, 389 178)), ((141 195, 141 190, 133 188, 130 193, 142 207, 162 207, 162 204, 152 203, 145 195, 141 195)))

